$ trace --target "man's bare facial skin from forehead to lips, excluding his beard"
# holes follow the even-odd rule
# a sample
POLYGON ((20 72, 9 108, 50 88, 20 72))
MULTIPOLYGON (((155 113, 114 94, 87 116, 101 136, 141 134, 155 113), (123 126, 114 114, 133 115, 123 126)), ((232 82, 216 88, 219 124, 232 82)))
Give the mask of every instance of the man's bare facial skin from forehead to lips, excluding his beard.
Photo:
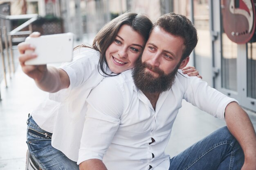
POLYGON ((152 66, 146 68, 154 77, 159 76, 154 69, 162 70, 164 74, 170 74, 180 63, 184 42, 181 37, 173 36, 162 28, 155 27, 150 34, 142 54, 142 63, 152 66))

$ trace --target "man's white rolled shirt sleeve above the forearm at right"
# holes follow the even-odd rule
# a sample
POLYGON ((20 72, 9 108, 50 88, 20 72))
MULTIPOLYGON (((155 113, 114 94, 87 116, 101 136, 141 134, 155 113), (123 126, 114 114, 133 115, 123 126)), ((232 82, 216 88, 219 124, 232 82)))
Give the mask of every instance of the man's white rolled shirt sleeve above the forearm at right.
POLYGON ((188 81, 188 87, 184 99, 216 118, 225 120, 225 108, 227 105, 230 102, 238 103, 234 98, 229 98, 207 85, 201 78, 189 77, 186 79, 188 81))

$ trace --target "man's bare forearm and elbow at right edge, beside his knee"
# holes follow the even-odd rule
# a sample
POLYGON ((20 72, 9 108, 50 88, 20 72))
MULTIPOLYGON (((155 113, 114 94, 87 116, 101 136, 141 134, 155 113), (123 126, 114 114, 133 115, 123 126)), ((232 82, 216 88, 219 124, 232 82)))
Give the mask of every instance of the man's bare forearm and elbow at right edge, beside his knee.
POLYGON ((236 102, 231 102, 225 109, 225 121, 243 148, 245 163, 242 170, 256 170, 256 135, 249 116, 236 102))

